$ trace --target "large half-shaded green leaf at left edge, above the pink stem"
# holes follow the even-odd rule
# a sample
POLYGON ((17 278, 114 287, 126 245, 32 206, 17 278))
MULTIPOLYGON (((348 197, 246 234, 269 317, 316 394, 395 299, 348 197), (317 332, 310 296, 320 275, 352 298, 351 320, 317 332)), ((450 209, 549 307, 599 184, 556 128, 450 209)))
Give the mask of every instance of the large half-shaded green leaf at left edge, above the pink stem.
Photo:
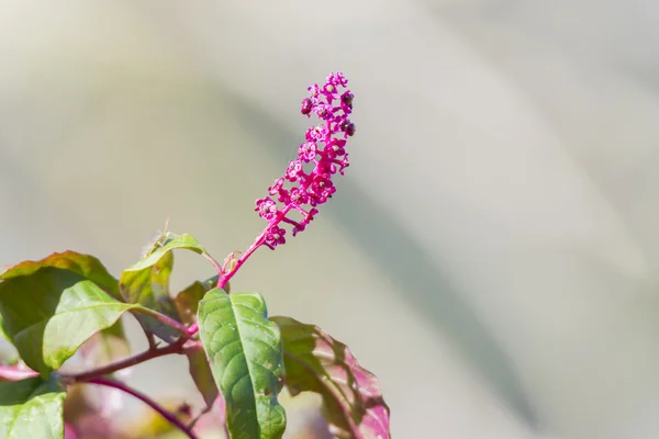
POLYGON ((92 335, 138 307, 74 271, 43 267, 25 272, 2 274, 0 314, 23 361, 44 378, 92 335))

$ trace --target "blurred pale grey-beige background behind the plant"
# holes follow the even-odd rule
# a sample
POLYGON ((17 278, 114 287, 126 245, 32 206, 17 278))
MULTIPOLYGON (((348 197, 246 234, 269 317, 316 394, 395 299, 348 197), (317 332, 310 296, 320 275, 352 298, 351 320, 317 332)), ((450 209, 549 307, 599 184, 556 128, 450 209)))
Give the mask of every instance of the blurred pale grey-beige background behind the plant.
MULTIPOLYGON (((233 290, 347 342, 396 438, 657 438, 658 59, 651 0, 0 0, 0 264, 245 249, 343 71, 336 196, 233 290)), ((127 380, 198 403, 186 368, 127 380)))

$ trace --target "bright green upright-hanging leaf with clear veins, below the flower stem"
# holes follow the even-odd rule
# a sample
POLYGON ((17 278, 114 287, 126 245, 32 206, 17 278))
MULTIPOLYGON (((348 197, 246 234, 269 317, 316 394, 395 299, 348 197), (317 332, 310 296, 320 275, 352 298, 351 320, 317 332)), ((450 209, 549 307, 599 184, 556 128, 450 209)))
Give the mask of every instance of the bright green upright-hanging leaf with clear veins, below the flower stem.
POLYGON ((277 396, 283 381, 281 334, 268 322, 258 293, 206 293, 199 303, 201 342, 226 401, 232 438, 280 438, 286 413, 277 396))

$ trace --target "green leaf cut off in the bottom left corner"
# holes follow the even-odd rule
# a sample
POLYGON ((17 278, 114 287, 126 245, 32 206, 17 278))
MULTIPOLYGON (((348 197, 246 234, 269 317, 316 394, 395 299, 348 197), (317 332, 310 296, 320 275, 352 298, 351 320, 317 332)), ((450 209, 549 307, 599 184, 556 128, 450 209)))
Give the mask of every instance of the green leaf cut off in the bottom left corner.
POLYGON ((0 383, 0 438, 63 438, 65 397, 53 378, 0 383))

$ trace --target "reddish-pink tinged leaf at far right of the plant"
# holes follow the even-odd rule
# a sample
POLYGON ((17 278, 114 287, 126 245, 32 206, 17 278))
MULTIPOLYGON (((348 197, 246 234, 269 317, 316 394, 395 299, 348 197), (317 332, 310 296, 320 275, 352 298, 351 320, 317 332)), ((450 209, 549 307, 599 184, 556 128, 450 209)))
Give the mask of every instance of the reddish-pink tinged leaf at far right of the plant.
POLYGON ((271 317, 281 329, 286 385, 294 396, 323 397, 325 418, 338 438, 389 438, 389 407, 378 379, 364 369, 348 347, 314 325, 271 317))

